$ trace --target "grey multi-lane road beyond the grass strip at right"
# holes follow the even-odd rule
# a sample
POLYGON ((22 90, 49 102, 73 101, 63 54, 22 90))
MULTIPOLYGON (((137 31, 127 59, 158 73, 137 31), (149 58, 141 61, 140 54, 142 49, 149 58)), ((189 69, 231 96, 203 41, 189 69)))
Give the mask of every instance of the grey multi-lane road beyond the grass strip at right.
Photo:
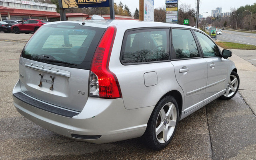
POLYGON ((217 39, 224 42, 234 42, 246 45, 256 45, 256 34, 231 31, 228 29, 222 30, 222 35, 217 35, 217 39))

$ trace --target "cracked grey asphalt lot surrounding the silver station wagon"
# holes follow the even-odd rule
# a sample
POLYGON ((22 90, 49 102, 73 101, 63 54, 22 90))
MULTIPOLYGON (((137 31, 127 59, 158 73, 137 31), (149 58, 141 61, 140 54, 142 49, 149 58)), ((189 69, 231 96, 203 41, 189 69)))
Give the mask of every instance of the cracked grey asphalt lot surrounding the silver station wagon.
MULTIPOLYGON (((140 138, 90 144, 48 131, 14 108, 12 89, 19 78, 20 52, 31 35, 0 33, 1 160, 256 159, 256 103, 252 100, 256 92, 256 67, 246 60, 236 55, 230 57, 239 66, 239 93, 231 100, 215 100, 180 121, 174 139, 163 150, 149 150, 140 138), (254 68, 244 68, 247 65, 254 68)), ((239 51, 233 51, 236 52, 239 51)))

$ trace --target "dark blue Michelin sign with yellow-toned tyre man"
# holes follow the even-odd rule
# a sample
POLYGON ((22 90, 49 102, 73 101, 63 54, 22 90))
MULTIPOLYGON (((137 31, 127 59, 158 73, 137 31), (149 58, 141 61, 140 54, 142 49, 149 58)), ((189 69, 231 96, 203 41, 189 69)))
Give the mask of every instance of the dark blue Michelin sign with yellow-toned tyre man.
POLYGON ((109 0, 62 0, 62 8, 109 7, 109 0))

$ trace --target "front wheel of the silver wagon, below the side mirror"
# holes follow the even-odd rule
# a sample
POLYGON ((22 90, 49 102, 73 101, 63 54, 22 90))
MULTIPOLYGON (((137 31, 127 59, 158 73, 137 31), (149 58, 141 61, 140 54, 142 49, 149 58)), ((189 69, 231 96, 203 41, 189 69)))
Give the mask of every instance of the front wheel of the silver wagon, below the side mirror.
POLYGON ((238 74, 232 71, 229 76, 226 92, 222 96, 220 96, 220 100, 229 100, 233 98, 238 91, 239 84, 240 80, 238 74))

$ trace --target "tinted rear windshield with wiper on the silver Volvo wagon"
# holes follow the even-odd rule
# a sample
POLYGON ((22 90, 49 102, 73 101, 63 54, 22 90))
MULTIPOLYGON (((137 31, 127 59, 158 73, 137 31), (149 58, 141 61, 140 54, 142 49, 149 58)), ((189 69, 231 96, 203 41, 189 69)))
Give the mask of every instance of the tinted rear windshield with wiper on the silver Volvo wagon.
POLYGON ((21 57, 59 66, 90 69, 105 29, 77 23, 43 25, 28 41, 21 57))

